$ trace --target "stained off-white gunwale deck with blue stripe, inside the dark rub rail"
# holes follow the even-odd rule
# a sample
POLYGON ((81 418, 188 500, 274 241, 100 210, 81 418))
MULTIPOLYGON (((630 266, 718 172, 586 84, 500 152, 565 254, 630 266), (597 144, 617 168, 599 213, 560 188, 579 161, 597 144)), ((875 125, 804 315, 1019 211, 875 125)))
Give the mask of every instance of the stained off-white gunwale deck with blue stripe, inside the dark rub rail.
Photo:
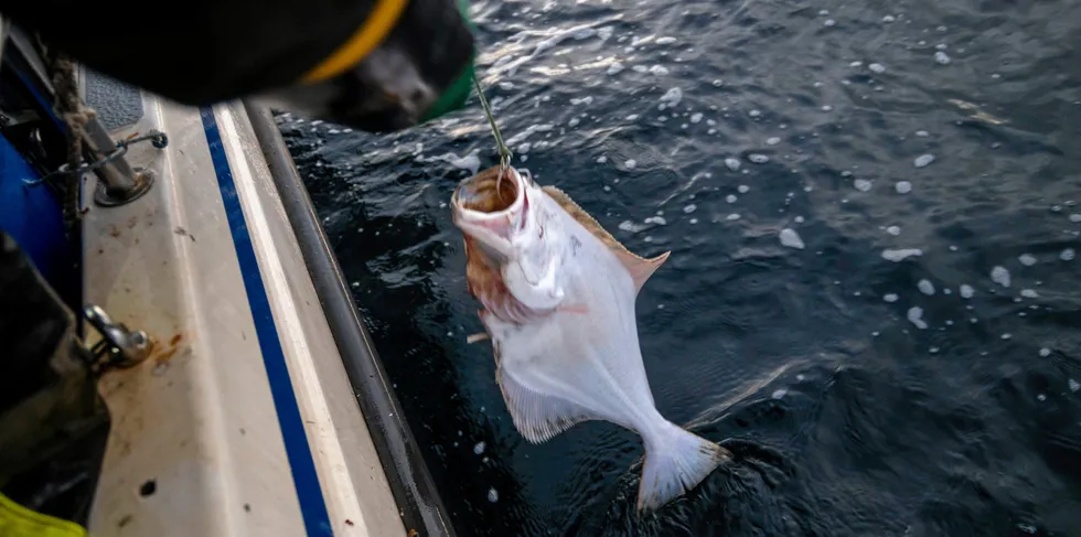
POLYGON ((146 331, 107 373, 92 535, 407 535, 313 280, 240 103, 179 106, 84 71, 84 99, 154 184, 84 185, 84 303, 146 331))

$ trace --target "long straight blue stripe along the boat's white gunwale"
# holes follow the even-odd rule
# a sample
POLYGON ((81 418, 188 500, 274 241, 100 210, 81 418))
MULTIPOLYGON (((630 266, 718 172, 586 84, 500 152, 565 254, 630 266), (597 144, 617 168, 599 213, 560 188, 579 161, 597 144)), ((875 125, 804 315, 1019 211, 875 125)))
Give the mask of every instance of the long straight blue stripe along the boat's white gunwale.
POLYGON ((244 289, 248 296, 251 316, 255 319, 259 348, 270 380, 270 393, 278 412, 278 425, 281 427, 289 466, 292 469, 292 481, 300 500, 304 527, 309 536, 331 536, 333 530, 330 515, 327 513, 323 493, 319 487, 319 475, 315 473, 315 463, 312 460, 311 448, 308 445, 308 437, 304 434, 300 407, 297 405, 297 396, 289 379, 286 356, 281 350, 281 342, 278 341, 278 330, 270 311, 270 300, 263 284, 259 262, 255 257, 244 212, 240 210, 240 200, 237 197, 236 183, 233 182, 233 172, 229 170, 229 161, 222 144, 217 120, 212 108, 200 109, 200 115, 203 119, 203 129, 206 131, 206 142, 210 144, 217 185, 222 191, 222 201, 225 203, 225 214, 229 222, 229 232, 233 234, 240 275, 244 278, 244 289))

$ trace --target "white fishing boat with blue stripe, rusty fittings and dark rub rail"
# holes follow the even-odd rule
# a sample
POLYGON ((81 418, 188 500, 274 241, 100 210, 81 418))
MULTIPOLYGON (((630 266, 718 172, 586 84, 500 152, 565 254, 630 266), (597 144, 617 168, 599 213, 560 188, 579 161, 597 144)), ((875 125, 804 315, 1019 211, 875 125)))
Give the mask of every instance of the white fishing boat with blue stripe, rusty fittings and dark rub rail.
POLYGON ((0 43, 0 536, 453 535, 274 112, 0 43))

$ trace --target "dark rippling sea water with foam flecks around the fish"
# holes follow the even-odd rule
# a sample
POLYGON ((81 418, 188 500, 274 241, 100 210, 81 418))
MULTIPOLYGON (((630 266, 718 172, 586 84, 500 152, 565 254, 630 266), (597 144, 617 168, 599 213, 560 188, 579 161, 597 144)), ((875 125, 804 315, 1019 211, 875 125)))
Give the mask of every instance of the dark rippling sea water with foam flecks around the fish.
POLYGON ((515 164, 672 250, 653 394, 736 462, 640 518, 636 434, 515 431, 447 207, 495 163, 475 99, 386 137, 281 116, 459 535, 1081 536, 1081 4, 473 13, 515 164))

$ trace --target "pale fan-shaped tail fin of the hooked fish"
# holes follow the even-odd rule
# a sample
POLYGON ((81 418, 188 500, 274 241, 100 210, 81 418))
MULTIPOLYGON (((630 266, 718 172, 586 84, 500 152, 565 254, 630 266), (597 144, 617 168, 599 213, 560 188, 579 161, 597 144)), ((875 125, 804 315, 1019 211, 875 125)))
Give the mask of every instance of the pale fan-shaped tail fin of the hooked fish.
POLYGON ((665 421, 645 442, 645 464, 638 490, 638 509, 653 511, 706 479, 731 453, 675 423, 665 421))

